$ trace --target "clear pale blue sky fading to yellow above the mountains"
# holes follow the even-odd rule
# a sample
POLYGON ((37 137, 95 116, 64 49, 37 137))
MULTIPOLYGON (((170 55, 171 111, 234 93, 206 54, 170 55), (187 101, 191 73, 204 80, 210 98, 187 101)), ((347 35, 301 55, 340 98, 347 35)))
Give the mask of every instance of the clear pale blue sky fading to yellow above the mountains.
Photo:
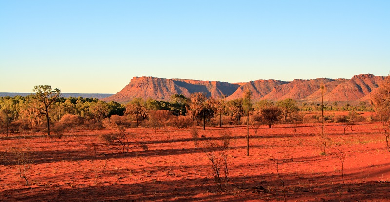
POLYGON ((389 0, 0 0, 0 92, 390 71, 389 0))

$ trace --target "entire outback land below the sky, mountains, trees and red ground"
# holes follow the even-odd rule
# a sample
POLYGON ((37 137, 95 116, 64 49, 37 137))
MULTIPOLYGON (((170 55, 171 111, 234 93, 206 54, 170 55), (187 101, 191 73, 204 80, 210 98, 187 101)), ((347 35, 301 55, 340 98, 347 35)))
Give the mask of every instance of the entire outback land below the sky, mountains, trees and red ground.
POLYGON ((0 201, 389 200, 389 76, 156 80, 104 101, 2 97, 0 201))

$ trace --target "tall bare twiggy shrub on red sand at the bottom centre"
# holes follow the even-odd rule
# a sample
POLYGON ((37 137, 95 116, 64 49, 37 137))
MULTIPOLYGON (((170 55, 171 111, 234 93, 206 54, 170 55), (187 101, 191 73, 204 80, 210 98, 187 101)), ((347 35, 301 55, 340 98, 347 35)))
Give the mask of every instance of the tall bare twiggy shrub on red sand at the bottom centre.
POLYGON ((212 193, 226 192, 229 185, 229 148, 220 147, 215 140, 208 140, 204 143, 202 151, 210 160, 213 177, 213 184, 210 184, 206 177, 204 182, 206 190, 212 193))

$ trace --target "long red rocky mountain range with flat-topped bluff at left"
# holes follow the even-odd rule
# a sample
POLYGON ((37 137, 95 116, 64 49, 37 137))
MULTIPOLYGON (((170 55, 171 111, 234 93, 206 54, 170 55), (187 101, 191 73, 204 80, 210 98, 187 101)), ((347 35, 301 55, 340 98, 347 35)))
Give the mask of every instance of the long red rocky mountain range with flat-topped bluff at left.
POLYGON ((297 101, 314 102, 321 100, 320 86, 325 86, 324 101, 367 101, 370 94, 383 81, 383 76, 360 74, 351 79, 317 78, 295 79, 291 82, 279 80, 256 80, 248 83, 227 83, 220 81, 199 81, 190 79, 165 79, 150 76, 133 77, 120 92, 104 98, 104 101, 128 102, 136 97, 169 101, 173 94, 190 97, 191 93, 204 92, 207 96, 227 100, 241 98, 249 89, 253 100, 273 101, 292 98, 297 101))

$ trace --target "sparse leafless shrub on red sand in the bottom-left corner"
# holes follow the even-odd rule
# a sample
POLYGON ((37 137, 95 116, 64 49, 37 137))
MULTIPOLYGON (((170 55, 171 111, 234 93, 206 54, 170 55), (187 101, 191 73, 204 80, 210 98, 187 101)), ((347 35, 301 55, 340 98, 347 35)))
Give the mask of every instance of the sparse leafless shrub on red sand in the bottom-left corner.
POLYGON ((18 173, 20 174, 20 178, 23 178, 26 181, 26 185, 29 185, 29 171, 31 169, 32 164, 35 160, 35 154, 30 150, 30 147, 22 147, 22 148, 11 148, 11 158, 10 163, 12 163, 16 169, 18 169, 18 173))

